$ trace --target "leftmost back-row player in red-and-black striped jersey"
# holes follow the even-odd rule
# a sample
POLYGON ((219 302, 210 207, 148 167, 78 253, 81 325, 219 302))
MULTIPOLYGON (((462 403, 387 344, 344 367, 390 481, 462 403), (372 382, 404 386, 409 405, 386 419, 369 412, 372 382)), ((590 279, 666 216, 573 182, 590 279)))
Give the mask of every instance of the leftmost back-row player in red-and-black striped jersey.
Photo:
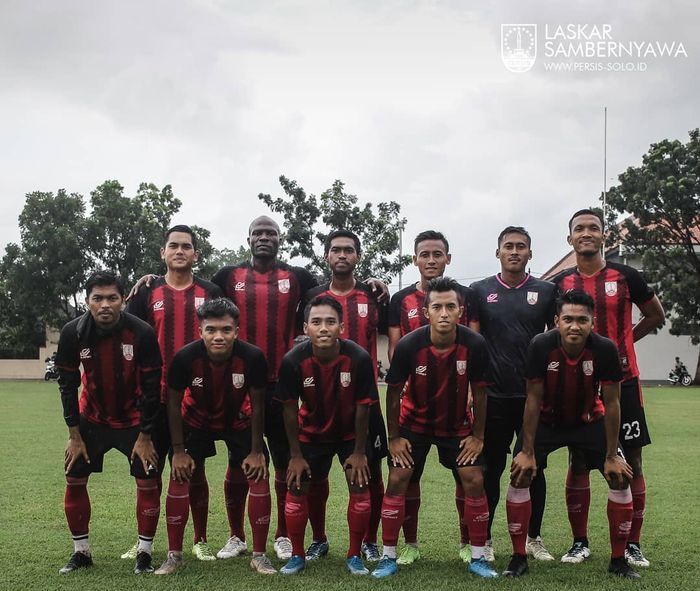
MULTIPOLYGON (((149 286, 142 287, 129 300, 127 312, 145 320, 156 331, 160 353, 163 357, 163 377, 161 379, 161 408, 156 422, 154 443, 160 458, 158 486, 162 490, 160 474, 165 467, 165 458, 170 448, 170 432, 166 410, 168 393, 168 368, 175 353, 186 344, 197 340, 199 320, 197 308, 206 300, 221 296, 218 286, 197 277, 192 268, 197 263, 197 237, 189 226, 173 226, 165 233, 165 245, 160 249, 160 257, 166 266, 166 273, 156 277, 149 286)), ((204 471, 204 462, 190 480, 190 503, 192 523, 194 525, 194 545, 192 553, 199 560, 214 560, 214 554, 207 543, 207 514, 209 511, 209 485, 204 471)), ((245 504, 245 494, 243 496, 245 504)), ((242 530, 231 524, 231 540, 235 542, 235 533, 242 530)), ((242 538, 245 540, 245 537, 242 538)), ((241 542, 244 543, 244 542, 241 542)), ((136 554, 134 546, 122 554, 122 558, 131 558, 136 554)), ((222 550, 223 552, 223 550, 222 550)))

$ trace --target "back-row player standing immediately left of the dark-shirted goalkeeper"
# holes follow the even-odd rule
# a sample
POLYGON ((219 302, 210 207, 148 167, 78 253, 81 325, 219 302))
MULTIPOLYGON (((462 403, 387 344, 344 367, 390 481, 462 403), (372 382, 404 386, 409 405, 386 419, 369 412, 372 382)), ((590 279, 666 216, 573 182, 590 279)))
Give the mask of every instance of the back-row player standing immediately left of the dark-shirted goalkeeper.
MULTIPOLYGON (((396 292, 389 304, 389 362, 399 339, 412 330, 428 324, 427 317, 422 313, 425 304, 425 291, 428 282, 435 277, 442 277, 445 267, 450 264, 452 255, 450 245, 441 232, 426 230, 414 240, 413 264, 418 267, 420 280, 396 292)), ((474 292, 460 285, 464 314, 460 323, 473 330, 479 330, 477 302, 474 292)), ((418 510, 420 509, 420 470, 415 470, 413 480, 406 492, 406 518, 403 525, 406 546, 399 556, 399 564, 411 564, 420 558, 418 550, 418 510)), ((464 525, 464 491, 459 478, 455 474, 455 504, 460 523, 460 556, 465 562, 469 561, 469 532, 464 525)))

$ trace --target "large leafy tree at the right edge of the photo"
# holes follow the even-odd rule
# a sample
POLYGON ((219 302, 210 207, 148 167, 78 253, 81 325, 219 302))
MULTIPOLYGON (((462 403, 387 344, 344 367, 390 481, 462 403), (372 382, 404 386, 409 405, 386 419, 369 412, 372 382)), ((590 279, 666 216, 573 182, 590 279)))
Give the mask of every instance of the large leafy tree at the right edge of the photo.
MULTIPOLYGON (((610 189, 611 217, 631 214, 609 240, 642 257, 644 273, 664 303, 670 332, 700 342, 700 130, 690 140, 652 144, 642 165, 610 189)), ((695 373, 700 382, 700 357, 695 373)))

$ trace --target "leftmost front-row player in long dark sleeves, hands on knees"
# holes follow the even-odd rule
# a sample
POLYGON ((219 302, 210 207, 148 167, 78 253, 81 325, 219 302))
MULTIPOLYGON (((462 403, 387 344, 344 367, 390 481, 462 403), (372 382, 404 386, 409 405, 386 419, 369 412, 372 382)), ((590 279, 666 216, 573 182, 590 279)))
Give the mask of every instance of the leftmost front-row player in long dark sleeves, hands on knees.
POLYGON ((161 376, 158 342, 148 324, 122 313, 124 286, 116 275, 93 273, 85 291, 88 311, 63 327, 56 354, 69 434, 65 511, 75 551, 60 572, 92 566, 87 481, 93 472, 102 472, 104 455, 112 448, 130 459, 136 479, 134 572, 153 572, 151 551, 160 513, 158 455, 151 441, 161 376))

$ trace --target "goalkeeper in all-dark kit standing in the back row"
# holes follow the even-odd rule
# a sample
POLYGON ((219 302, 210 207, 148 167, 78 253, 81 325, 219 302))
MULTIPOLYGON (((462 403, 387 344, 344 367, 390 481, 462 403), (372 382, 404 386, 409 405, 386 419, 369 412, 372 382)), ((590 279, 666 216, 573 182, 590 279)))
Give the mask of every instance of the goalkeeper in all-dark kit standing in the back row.
MULTIPOLYGON (((496 257, 501 272, 471 288, 479 307, 479 331, 489 350, 486 388, 486 439, 484 440, 484 488, 489 500, 489 539, 486 559, 493 562, 491 526, 500 499, 501 475, 506 467, 513 437, 523 426, 525 410, 525 360, 527 347, 536 334, 551 325, 555 313, 556 287, 526 272, 532 258, 531 239, 525 228, 508 226, 498 236, 496 257)), ((527 553, 537 560, 554 560, 545 548, 540 530, 544 514, 546 485, 538 472, 530 488, 532 518, 527 553)))

